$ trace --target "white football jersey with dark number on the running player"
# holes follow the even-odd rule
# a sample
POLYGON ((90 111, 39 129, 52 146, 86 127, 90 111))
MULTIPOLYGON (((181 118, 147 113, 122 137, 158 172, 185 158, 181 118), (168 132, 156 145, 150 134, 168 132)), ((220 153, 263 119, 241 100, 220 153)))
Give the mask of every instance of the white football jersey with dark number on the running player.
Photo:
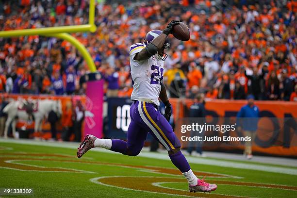
POLYGON ((132 100, 150 99, 154 104, 160 105, 159 95, 163 83, 164 61, 157 54, 144 61, 135 61, 134 56, 145 48, 142 43, 130 47, 130 66, 133 91, 132 100))

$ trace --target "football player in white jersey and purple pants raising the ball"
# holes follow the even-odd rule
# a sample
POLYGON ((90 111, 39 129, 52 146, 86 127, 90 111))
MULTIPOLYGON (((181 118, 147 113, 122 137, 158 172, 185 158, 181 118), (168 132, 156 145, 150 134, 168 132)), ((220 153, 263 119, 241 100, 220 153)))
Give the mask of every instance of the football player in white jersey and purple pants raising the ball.
POLYGON ((172 28, 178 25, 178 20, 168 23, 164 31, 152 30, 147 33, 144 43, 136 43, 130 47, 130 66, 132 75, 133 101, 130 116, 131 123, 127 132, 127 142, 118 139, 100 139, 87 135, 78 148, 80 158, 89 149, 101 147, 120 152, 124 155, 136 156, 143 148, 150 133, 168 151, 172 163, 180 169, 189 182, 190 192, 210 192, 217 188, 198 179, 186 158, 181 153, 181 143, 173 132, 168 120, 171 115, 171 104, 167 98, 163 83, 164 61, 167 57, 164 50, 169 49, 167 36, 172 28), (165 114, 158 110, 159 98, 165 104, 165 114))

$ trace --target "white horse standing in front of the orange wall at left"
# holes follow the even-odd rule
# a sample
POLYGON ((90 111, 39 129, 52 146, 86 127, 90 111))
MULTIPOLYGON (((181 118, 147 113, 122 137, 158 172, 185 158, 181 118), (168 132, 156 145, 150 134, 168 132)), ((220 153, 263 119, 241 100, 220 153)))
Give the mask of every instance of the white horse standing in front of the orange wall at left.
MULTIPOLYGON (((42 130, 42 120, 45 116, 49 114, 50 111, 54 111, 58 115, 62 115, 62 102, 61 100, 37 100, 38 108, 37 111, 33 112, 34 120, 34 132, 41 132, 42 130)), ((8 103, 3 112, 6 113, 7 120, 4 129, 4 138, 7 138, 8 127, 10 123, 12 124, 12 131, 14 137, 16 137, 16 119, 27 121, 29 115, 25 110, 19 110, 18 107, 22 104, 22 101, 14 100, 8 103)))

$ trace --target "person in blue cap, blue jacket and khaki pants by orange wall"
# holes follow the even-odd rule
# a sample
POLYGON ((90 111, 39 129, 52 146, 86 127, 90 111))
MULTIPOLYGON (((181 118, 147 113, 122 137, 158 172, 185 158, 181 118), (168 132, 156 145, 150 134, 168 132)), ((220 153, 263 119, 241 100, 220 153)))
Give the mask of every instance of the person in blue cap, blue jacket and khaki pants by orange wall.
POLYGON ((259 107, 254 104, 254 96, 247 96, 247 104, 241 107, 237 114, 237 126, 240 131, 243 129, 244 135, 251 138, 251 141, 245 142, 244 155, 247 159, 251 159, 252 156, 252 141, 255 139, 256 131, 258 129, 259 120, 259 107))

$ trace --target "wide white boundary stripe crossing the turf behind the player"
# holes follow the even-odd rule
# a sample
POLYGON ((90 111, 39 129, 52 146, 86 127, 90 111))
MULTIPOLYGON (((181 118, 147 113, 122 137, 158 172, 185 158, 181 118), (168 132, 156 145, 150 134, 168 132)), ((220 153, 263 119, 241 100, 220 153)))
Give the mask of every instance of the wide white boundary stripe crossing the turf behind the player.
MULTIPOLYGON (((79 143, 72 143, 72 142, 71 143, 70 142, 46 142, 46 141, 24 140, 24 139, 15 140, 15 139, 0 138, 0 143, 1 142, 25 144, 25 145, 40 145, 40 146, 47 146, 47 147, 60 147, 60 148, 77 148, 79 145, 79 143)), ((0 144, 0 146, 1 146, 1 144, 0 144)), ((103 148, 94 148, 94 149, 92 149, 92 151, 122 155, 121 153, 115 153, 113 151, 106 150, 103 148)), ((154 158, 154 159, 170 160, 166 153, 141 152, 138 156, 154 158)), ((224 160, 196 158, 196 157, 190 157, 190 156, 186 156, 186 158, 187 158, 188 162, 191 164, 215 165, 215 166, 221 166, 221 167, 241 168, 241 169, 248 169, 248 170, 260 170, 260 171, 266 171, 266 172, 297 175, 297 168, 277 167, 277 166, 270 166, 270 165, 246 164, 246 163, 241 163, 241 162, 230 162, 230 161, 224 161, 224 160)))

